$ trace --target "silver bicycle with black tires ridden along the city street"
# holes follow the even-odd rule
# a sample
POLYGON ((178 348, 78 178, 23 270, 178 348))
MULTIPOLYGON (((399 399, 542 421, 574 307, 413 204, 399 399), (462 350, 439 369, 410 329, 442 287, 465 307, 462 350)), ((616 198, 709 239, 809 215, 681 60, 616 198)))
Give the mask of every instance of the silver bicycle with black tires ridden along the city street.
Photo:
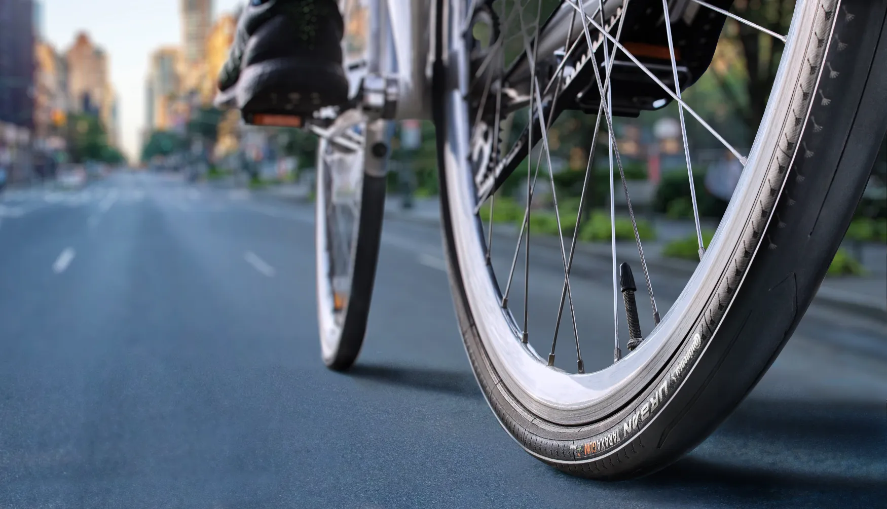
MULTIPOLYGON (((443 243, 456 315, 475 377, 502 427, 547 464, 606 480, 651 473, 710 435, 760 380, 804 315, 860 200, 876 140, 887 130, 887 2, 800 1, 784 35, 739 19, 729 11, 732 4, 342 2, 354 99, 307 122, 320 136, 316 241, 324 362, 347 369, 364 340, 390 122, 429 119, 436 124, 443 243), (748 154, 739 153, 681 95, 709 67, 727 18, 784 43, 748 154), (662 314, 612 121, 675 102, 701 261, 662 314), (530 204, 543 159, 549 168, 543 175, 555 189, 548 129, 568 111, 596 117, 584 190, 598 134, 602 127, 608 133, 614 348, 613 362, 592 372, 585 372, 581 356, 569 278, 578 227, 569 242, 560 236, 564 282, 551 353, 539 354, 530 341, 537 334, 528 333, 529 240, 518 306, 522 320, 508 305, 521 246, 530 236, 530 204), (696 204, 688 121, 703 126, 744 167, 708 245, 696 204), (493 224, 480 214, 488 201, 495 208, 496 191, 524 160, 526 208, 502 278, 491 263, 493 224), (617 192, 628 202, 643 271, 640 288, 649 294, 655 328, 646 336, 633 295, 638 285, 616 261, 617 192), (620 333, 620 300, 627 337, 624 328, 620 333), (575 372, 555 365, 565 314, 573 324, 575 372)), ((585 191, 580 211, 584 200, 585 191)), ((563 232, 560 213, 555 216, 563 232)))

